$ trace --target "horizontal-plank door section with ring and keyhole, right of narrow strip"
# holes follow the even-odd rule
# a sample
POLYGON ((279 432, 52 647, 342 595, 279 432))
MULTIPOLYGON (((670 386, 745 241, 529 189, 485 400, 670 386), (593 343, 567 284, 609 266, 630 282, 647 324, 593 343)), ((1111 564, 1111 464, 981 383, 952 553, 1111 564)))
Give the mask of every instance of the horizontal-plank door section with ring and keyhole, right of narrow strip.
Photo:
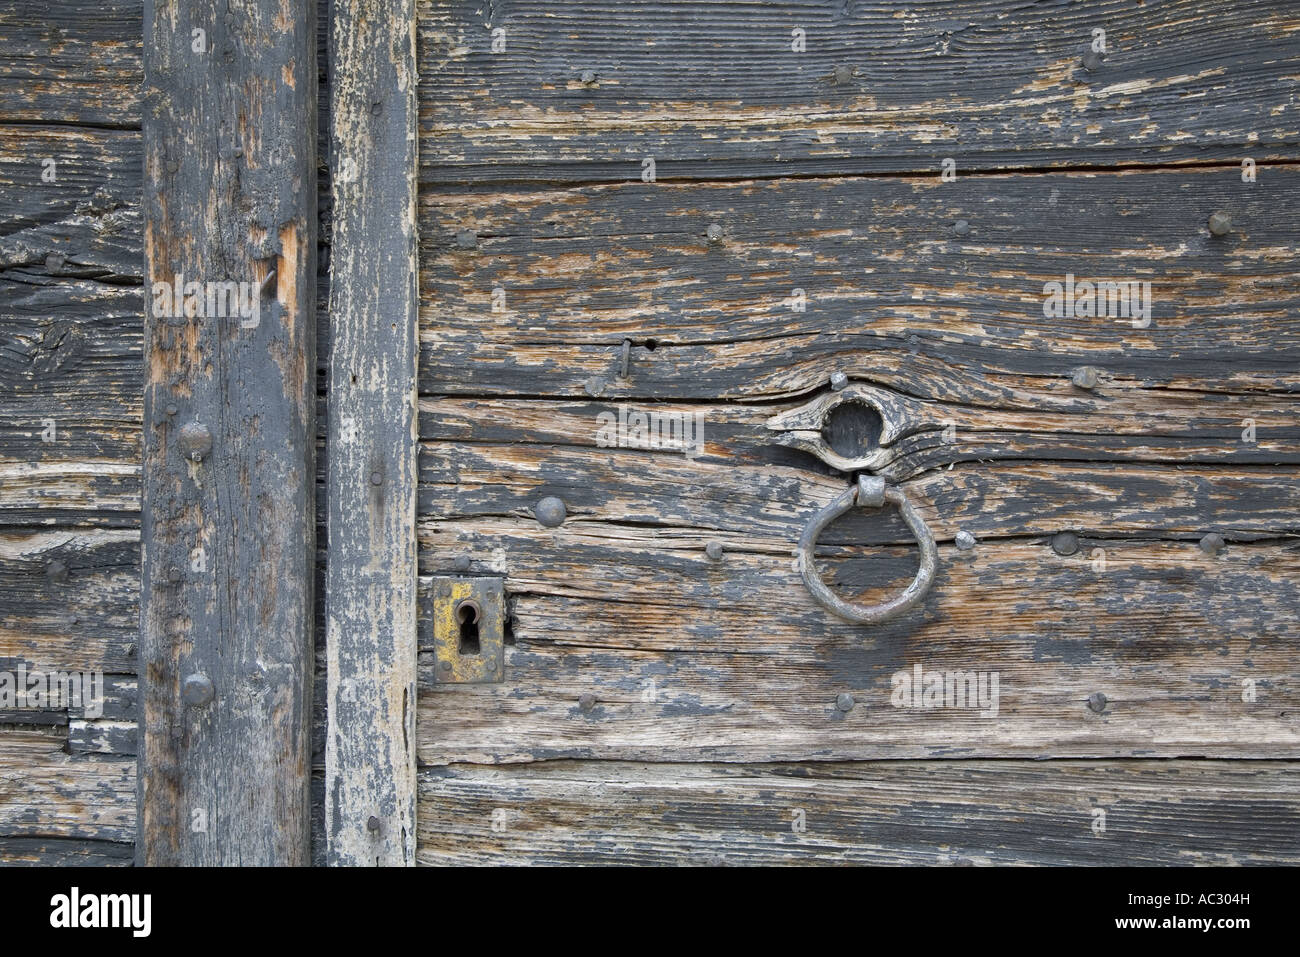
POLYGON ((1296 859, 1294 14, 420 4, 419 858, 1296 859))

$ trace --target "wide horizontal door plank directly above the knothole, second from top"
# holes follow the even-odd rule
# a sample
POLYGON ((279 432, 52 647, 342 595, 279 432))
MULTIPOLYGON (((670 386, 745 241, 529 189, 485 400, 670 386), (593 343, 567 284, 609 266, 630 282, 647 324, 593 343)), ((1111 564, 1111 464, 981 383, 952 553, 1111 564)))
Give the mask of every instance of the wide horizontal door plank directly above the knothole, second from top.
POLYGON ((420 391, 584 397, 597 377, 604 399, 759 400, 841 369, 980 407, 1294 394, 1297 204, 1294 165, 1256 183, 1227 168, 425 190, 420 391), (1206 228, 1217 209, 1226 237, 1206 228), (1045 283, 1069 274, 1150 282, 1150 324, 1045 315, 1045 283), (1101 369, 1095 395, 1071 385, 1079 365, 1101 369))

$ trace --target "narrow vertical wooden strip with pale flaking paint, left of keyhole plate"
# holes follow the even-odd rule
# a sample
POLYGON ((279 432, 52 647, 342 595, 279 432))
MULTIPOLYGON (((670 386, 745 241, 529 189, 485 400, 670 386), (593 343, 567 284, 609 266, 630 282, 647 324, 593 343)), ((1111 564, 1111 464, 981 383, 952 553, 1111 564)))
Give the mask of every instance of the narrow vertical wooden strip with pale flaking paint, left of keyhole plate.
POLYGON ((415 0, 335 0, 326 859, 415 863, 415 0))

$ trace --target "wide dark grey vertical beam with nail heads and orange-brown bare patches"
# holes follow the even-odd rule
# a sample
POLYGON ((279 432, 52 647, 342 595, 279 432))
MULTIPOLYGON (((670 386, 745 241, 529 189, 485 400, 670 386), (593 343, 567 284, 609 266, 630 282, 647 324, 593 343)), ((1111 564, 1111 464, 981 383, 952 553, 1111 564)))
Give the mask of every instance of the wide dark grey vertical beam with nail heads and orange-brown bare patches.
POLYGON ((144 865, 311 858, 315 38, 144 7, 144 865))

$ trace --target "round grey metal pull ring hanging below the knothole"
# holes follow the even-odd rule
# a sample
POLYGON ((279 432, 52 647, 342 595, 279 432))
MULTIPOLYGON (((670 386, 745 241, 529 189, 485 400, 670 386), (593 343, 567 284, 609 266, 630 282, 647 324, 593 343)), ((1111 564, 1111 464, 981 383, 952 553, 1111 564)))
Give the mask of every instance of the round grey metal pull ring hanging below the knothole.
POLYGON ((855 485, 845 489, 826 508, 812 516, 807 528, 803 529, 803 534, 800 536, 798 566, 803 584, 823 607, 850 622, 879 624, 901 615, 926 597, 926 592, 930 590, 930 585, 935 580, 935 570, 939 567, 939 550, 935 547, 935 537, 930 533, 930 528, 911 507, 911 502, 907 501, 901 489, 885 485, 885 480, 878 476, 862 475, 858 476, 855 485), (827 588, 827 584, 816 573, 812 550, 816 547, 818 536, 826 531, 827 525, 854 506, 879 508, 885 502, 892 502, 898 508, 902 520, 907 523, 907 528, 916 537, 916 544, 920 546, 920 570, 901 594, 887 602, 879 605, 846 602, 827 588))

